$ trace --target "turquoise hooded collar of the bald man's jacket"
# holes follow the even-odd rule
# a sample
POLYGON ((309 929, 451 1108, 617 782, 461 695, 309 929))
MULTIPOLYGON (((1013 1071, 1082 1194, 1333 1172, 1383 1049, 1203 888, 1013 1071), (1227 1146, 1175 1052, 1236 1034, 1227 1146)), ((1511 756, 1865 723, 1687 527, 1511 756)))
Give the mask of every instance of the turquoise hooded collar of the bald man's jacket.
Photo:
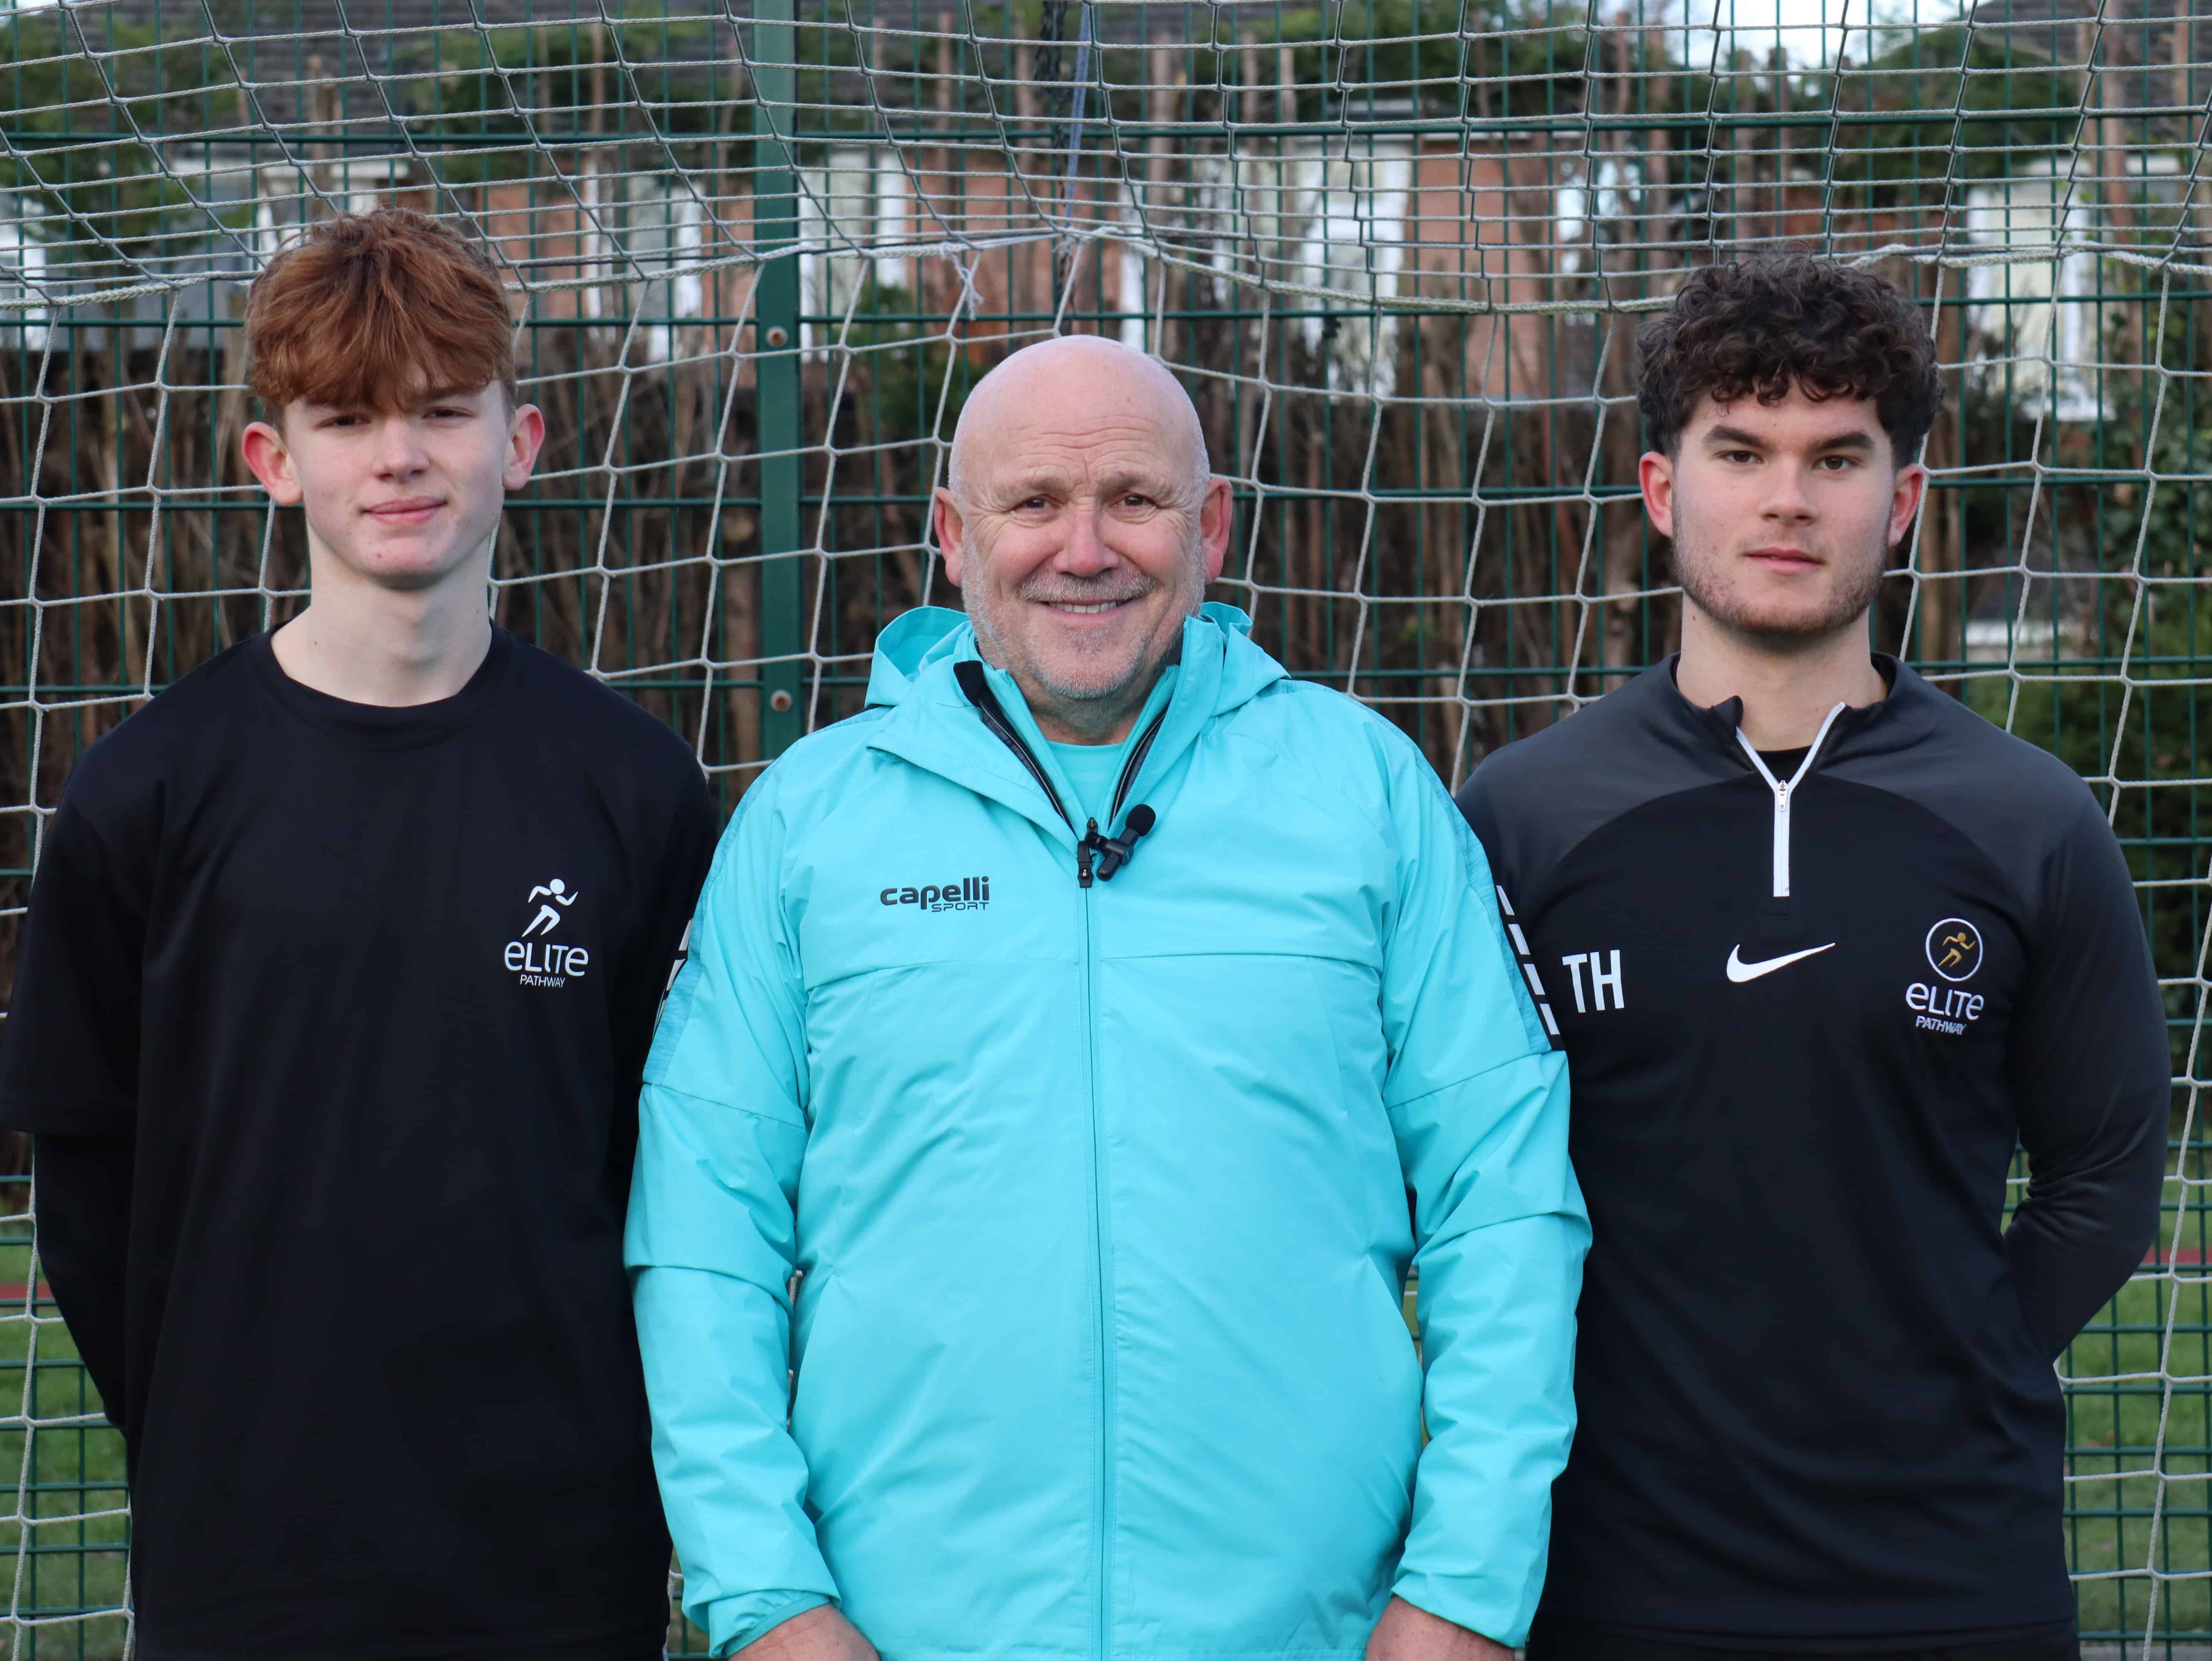
MULTIPOLYGON (((1159 719, 1159 732, 1144 765, 1128 781, 1126 803, 1150 798, 1161 809, 1159 790, 1197 743, 1206 723, 1250 701, 1285 679, 1285 670, 1250 641, 1252 619, 1234 606, 1206 604, 1183 619, 1181 672, 1164 677, 1139 712, 1133 734, 1159 719), (1166 681, 1172 679, 1172 692, 1166 681)), ((995 694, 1006 725, 1022 739, 1062 803, 1073 803, 1066 776, 1051 759, 1051 745, 1029 712, 1029 701, 1011 675, 984 661, 967 617, 940 606, 920 606, 891 621, 876 641, 867 701, 889 706, 869 737, 869 748, 927 767, 1029 818, 1057 843, 1073 845, 1084 827, 1071 825, 1024 759, 984 721, 960 690, 958 666, 975 664, 995 694)), ((975 670, 971 670, 973 675, 975 670)), ((1066 814, 1077 814, 1068 807, 1066 814)))

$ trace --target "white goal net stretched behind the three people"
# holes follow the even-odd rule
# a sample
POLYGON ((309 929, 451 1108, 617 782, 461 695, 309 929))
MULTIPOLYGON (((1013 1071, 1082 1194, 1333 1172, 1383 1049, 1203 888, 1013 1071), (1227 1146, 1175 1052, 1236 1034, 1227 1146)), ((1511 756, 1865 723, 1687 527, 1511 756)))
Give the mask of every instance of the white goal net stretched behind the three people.
MULTIPOLYGON (((239 310, 330 212, 498 252, 551 442, 495 615, 726 805, 858 708, 885 619, 958 604, 945 442, 1053 332, 1181 374, 1237 489, 1214 597, 1458 783, 1672 650, 1641 314, 1743 250, 1867 263, 1949 387, 1878 639, 2099 790, 2157 947, 2174 1177, 2062 1369, 2066 1537, 2093 1646, 2201 1654, 2208 4, 0 7, 0 973, 84 745, 305 597, 237 453, 239 310)), ((7 1183, 9 1646, 119 1654, 122 1453, 7 1183)))

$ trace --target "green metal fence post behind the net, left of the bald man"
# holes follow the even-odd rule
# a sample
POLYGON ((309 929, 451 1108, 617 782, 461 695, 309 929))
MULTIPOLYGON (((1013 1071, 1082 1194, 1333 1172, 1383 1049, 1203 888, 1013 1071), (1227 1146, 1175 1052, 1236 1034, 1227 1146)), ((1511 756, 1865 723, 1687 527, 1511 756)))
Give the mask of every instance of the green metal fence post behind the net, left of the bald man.
POLYGON ((805 482, 799 400, 799 150, 792 144, 799 69, 792 0, 752 9, 752 372, 761 436, 761 756, 774 761, 805 730, 805 595, 799 493, 805 482), (774 451, 774 453, 772 453, 774 451))

